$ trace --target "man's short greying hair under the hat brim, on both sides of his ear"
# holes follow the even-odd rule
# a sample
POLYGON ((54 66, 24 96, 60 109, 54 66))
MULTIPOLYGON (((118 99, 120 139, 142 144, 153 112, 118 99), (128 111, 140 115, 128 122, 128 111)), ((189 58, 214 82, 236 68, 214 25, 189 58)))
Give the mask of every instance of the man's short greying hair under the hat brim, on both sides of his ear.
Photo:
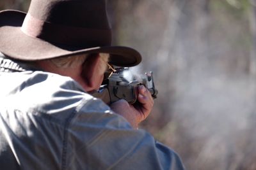
MULTIPOLYGON (((99 53, 100 55, 100 64, 98 67, 98 71, 100 73, 104 73, 107 68, 108 60, 109 60, 109 53, 99 53)), ((70 57, 59 57, 56 59, 50 59, 50 61, 56 67, 63 67, 63 68, 74 68, 77 66, 81 66, 86 59, 90 57, 90 54, 83 54, 83 55, 76 55, 70 57)))

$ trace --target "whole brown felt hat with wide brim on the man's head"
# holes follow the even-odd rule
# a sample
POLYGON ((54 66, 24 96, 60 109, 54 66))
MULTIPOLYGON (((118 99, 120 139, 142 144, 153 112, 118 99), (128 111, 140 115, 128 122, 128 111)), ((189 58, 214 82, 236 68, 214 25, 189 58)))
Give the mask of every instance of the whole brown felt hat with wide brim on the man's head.
POLYGON ((0 11, 0 52, 19 60, 109 53, 116 66, 136 66, 141 55, 111 46, 105 0, 31 0, 28 13, 0 11))

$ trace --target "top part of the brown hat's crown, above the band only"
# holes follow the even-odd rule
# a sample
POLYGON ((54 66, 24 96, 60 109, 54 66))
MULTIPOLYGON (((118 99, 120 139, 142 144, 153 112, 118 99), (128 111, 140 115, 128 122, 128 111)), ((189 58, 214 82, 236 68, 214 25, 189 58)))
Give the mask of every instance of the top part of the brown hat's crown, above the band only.
POLYGON ((59 25, 109 29, 104 0, 32 0, 28 13, 59 25))

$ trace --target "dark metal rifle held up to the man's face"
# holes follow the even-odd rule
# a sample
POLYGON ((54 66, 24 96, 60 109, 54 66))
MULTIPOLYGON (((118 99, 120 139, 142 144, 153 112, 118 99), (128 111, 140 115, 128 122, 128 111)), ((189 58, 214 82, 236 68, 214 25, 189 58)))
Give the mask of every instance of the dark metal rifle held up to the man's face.
POLYGON ((152 71, 145 73, 141 80, 136 80, 133 77, 132 81, 128 81, 124 77, 125 71, 128 71, 127 67, 116 68, 115 73, 106 78, 100 89, 93 92, 92 96, 102 99, 106 104, 114 103, 120 99, 125 99, 128 103, 134 104, 137 101, 138 86, 144 85, 150 91, 151 96, 156 99, 157 90, 154 85, 152 71))

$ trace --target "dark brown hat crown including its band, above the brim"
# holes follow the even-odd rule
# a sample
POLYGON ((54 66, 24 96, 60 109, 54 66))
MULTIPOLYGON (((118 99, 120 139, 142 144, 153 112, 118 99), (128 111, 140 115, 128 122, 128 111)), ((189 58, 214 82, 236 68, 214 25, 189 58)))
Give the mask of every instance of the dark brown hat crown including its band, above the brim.
POLYGON ((111 45, 104 0, 32 0, 21 30, 70 50, 111 45))

